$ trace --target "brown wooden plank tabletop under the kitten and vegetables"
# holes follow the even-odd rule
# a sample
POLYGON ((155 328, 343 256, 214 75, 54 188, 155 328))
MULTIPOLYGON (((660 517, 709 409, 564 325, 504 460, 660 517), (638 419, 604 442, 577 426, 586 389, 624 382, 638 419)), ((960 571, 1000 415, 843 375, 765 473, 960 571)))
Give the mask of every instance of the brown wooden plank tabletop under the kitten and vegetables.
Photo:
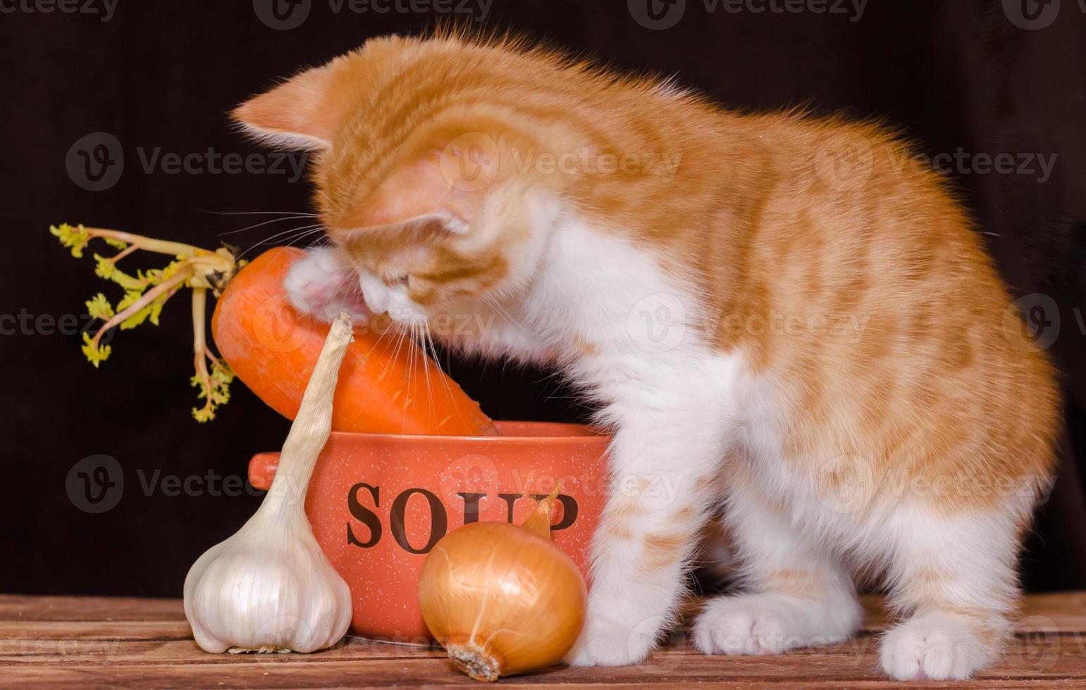
MULTIPOLYGON (((876 665, 885 627, 879 601, 855 639, 782 656, 704 656, 681 631, 648 663, 561 668, 501 681, 521 686, 881 688, 876 665)), ((1086 592, 1030 597, 997 667, 968 683, 910 688, 1086 688, 1086 592)), ((179 600, 0 596, 0 687, 4 688, 366 688, 478 685, 440 650, 349 638, 316 654, 206 654, 179 600)))

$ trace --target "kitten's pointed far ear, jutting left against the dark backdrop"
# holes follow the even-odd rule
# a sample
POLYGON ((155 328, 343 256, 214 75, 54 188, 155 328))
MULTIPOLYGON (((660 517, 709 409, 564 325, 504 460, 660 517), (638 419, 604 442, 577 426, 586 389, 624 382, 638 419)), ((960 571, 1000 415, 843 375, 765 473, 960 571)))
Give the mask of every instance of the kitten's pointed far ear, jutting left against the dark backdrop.
POLYGON ((253 97, 231 116, 258 139, 292 149, 329 149, 332 136, 350 107, 338 84, 336 62, 306 69, 270 91, 253 97))

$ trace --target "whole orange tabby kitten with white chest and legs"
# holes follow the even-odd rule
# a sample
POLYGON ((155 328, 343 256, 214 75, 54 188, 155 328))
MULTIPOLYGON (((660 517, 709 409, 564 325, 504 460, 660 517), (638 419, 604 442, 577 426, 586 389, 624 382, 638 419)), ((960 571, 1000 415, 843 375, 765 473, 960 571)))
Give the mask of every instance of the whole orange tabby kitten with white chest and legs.
POLYGON ((485 317, 445 340, 552 363, 602 404, 623 490, 572 664, 648 654, 721 502, 746 590, 706 604, 703 652, 846 638, 863 571, 904 616, 891 676, 997 659, 1053 371, 892 135, 453 35, 370 40, 235 115, 318 152, 332 246, 287 279, 299 306, 485 317))

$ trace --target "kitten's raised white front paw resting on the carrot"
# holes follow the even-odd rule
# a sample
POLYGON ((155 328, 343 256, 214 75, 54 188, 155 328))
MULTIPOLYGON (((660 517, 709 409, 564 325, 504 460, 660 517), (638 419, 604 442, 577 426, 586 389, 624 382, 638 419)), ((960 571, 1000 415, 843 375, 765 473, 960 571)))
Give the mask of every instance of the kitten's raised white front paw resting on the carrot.
POLYGON ((369 314, 357 274, 342 253, 332 247, 307 252, 287 271, 282 288, 295 309, 321 321, 331 321, 340 311, 346 311, 355 321, 365 321, 369 314))

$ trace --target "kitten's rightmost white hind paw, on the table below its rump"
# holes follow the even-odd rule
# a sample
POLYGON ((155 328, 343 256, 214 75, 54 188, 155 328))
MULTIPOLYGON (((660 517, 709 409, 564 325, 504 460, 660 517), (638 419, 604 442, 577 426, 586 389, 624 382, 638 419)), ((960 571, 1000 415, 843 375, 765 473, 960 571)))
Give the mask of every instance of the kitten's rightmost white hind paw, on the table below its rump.
POLYGON ((927 614, 891 629, 880 659, 883 670, 896 680, 963 680, 990 664, 997 651, 961 616, 927 614))

